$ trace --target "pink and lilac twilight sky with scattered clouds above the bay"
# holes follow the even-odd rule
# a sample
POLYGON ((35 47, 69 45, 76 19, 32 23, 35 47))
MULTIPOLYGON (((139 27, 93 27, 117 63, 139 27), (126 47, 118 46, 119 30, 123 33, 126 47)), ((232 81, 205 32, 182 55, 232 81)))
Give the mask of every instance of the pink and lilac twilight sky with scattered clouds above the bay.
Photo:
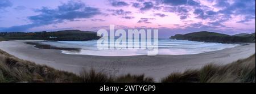
POLYGON ((159 29, 160 37, 197 31, 255 32, 255 0, 0 0, 0 32, 159 29))

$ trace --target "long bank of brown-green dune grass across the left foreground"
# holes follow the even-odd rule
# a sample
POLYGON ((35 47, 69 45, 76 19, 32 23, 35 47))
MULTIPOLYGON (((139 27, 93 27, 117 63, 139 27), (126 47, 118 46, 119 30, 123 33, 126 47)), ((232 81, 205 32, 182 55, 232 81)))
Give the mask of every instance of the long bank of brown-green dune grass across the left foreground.
POLYGON ((24 61, 0 50, 0 83, 13 82, 56 82, 56 83, 150 83, 152 78, 144 75, 123 75, 109 77, 106 74, 95 71, 82 71, 80 75, 53 69, 44 65, 36 65, 30 61, 24 61))

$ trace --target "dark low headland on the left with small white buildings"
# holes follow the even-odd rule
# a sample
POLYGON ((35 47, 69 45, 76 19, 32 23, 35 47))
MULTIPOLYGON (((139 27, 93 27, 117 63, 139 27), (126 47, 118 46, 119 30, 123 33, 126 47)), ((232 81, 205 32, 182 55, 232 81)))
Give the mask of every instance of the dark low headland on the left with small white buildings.
POLYGON ((56 32, 0 32, 0 40, 51 40, 51 41, 86 41, 97 40, 96 32, 65 30, 56 32))

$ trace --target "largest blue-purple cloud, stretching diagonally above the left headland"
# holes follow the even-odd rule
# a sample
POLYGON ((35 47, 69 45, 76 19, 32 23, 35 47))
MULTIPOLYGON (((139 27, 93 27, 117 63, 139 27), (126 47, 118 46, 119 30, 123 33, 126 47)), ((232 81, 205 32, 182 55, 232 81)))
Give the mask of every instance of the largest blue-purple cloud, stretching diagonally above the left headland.
POLYGON ((101 14, 98 8, 85 6, 83 2, 63 3, 55 9, 43 7, 35 10, 40 14, 34 16, 28 16, 27 18, 32 22, 26 25, 16 25, 9 28, 2 28, 0 31, 26 31, 29 28, 39 27, 42 25, 62 23, 64 20, 74 21, 80 18, 92 18, 95 15, 101 14))

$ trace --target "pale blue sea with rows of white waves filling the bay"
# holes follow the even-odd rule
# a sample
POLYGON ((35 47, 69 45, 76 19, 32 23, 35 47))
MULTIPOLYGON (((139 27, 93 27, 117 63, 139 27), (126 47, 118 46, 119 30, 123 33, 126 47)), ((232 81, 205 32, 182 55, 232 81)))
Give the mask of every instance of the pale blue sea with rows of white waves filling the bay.
MULTIPOLYGON (((61 48, 79 48, 79 52, 61 50, 64 54, 81 54, 81 55, 99 55, 99 56, 131 56, 131 55, 147 55, 148 50, 99 50, 97 48, 97 40, 91 41, 44 41, 40 44, 47 44, 61 48)), ((113 44, 113 42, 110 42, 113 44)), ((135 42, 134 44, 139 44, 135 42)), ((142 45, 145 46, 145 45, 142 45)), ((183 54, 199 54, 222 50, 225 48, 233 48, 240 46, 239 44, 221 44, 213 42, 197 42, 187 40, 158 40, 158 54, 183 55, 183 54)))

